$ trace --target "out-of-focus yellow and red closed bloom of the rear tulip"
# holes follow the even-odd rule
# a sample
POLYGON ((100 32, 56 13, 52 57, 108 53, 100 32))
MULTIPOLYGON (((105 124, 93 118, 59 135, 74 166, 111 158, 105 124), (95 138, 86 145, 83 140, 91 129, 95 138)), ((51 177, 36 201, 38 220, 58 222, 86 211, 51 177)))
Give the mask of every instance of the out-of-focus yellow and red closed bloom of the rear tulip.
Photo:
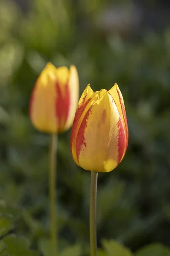
POLYGON ((30 100, 30 118, 37 130, 61 133, 71 127, 79 99, 74 65, 56 68, 48 63, 37 79, 30 100))

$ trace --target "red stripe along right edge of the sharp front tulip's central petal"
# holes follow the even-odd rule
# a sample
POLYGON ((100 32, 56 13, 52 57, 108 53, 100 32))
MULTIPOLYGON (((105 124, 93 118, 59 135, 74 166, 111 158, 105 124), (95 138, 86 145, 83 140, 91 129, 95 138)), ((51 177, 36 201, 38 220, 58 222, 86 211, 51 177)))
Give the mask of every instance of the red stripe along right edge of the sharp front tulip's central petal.
POLYGON ((124 151, 125 151, 125 147, 126 147, 126 138, 125 138, 125 129, 123 126, 123 122, 121 117, 119 117, 119 120, 117 122, 117 127, 118 127, 118 157, 117 157, 117 166, 119 165, 119 163, 122 160, 124 151))

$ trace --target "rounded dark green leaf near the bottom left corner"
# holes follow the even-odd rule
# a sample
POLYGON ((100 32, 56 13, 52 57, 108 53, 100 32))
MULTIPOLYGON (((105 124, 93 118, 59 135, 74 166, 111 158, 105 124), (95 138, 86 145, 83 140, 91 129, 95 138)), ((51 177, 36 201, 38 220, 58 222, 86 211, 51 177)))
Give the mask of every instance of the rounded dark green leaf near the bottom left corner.
POLYGON ((12 256, 22 256, 23 253, 28 251, 29 241, 23 236, 6 236, 3 242, 7 244, 6 251, 12 256))

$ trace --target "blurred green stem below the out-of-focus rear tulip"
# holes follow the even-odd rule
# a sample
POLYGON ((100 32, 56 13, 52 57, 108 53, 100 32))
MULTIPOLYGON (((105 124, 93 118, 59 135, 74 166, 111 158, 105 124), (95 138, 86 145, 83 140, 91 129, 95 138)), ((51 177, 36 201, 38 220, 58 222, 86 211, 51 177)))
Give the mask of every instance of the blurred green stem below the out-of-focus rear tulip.
POLYGON ((57 158, 57 134, 51 134, 50 142, 50 172, 49 172, 49 193, 50 193, 50 233, 52 256, 57 256, 57 214, 56 214, 56 158, 57 158))

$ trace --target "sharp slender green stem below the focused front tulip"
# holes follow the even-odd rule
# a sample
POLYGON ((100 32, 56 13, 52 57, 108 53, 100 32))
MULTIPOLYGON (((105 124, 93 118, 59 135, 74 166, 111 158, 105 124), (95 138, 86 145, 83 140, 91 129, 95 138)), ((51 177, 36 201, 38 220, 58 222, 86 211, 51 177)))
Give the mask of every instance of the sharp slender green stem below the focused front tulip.
POLYGON ((96 239, 96 196, 97 196, 98 172, 91 172, 91 194, 90 194, 90 245, 91 256, 97 255, 96 239))

